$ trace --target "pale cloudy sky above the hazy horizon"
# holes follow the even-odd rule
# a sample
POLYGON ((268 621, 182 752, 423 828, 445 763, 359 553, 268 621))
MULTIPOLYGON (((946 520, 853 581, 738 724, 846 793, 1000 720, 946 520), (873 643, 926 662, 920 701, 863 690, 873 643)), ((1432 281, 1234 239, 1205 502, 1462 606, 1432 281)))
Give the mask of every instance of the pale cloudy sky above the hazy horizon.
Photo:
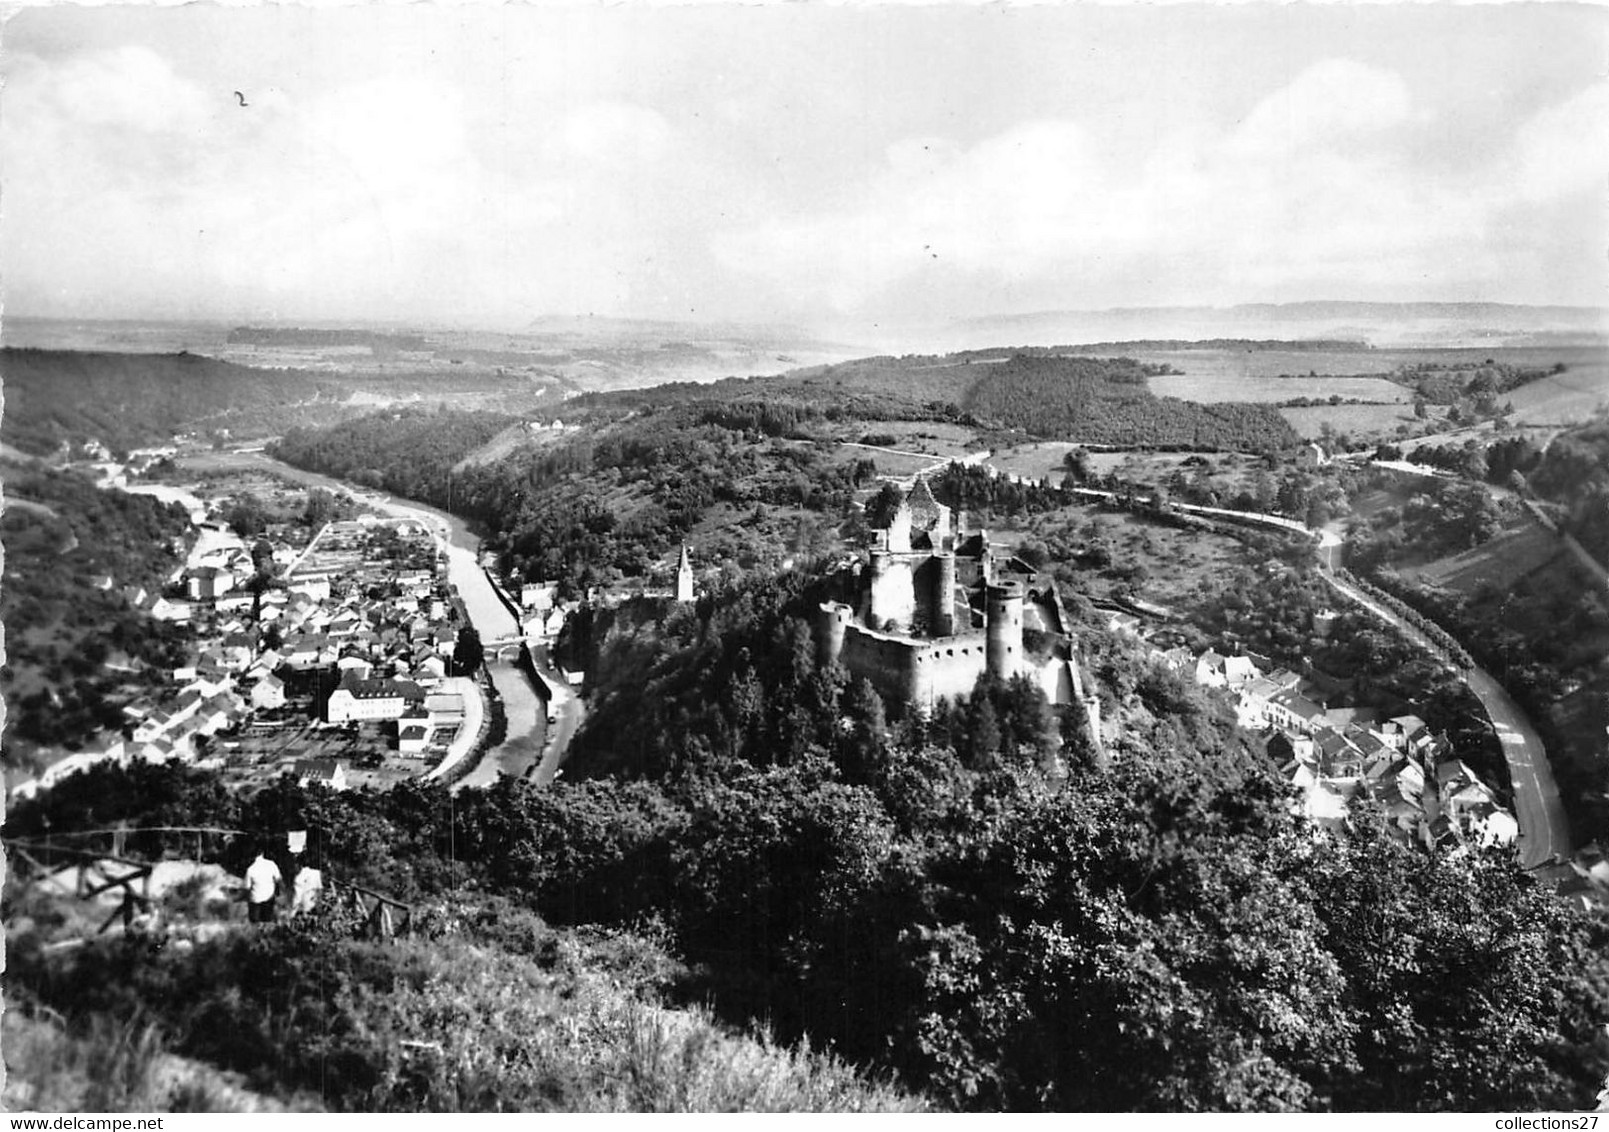
POLYGON ((1609 306, 1599 5, 51 5, 0 77, 10 315, 1609 306))

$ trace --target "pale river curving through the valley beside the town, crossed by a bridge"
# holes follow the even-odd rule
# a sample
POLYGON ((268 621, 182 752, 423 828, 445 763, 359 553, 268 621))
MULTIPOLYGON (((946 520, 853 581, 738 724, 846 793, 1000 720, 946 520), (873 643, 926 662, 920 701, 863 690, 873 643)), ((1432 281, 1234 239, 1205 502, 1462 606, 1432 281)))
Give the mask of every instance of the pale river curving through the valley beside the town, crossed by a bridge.
MULTIPOLYGON (((470 624, 475 625, 481 640, 504 640, 520 635, 520 622, 508 613, 508 606, 497 597, 486 571, 481 569, 479 535, 471 532, 459 516, 414 500, 399 500, 385 492, 365 492, 333 476, 293 468, 262 452, 235 452, 230 457, 228 463, 240 468, 270 471, 309 487, 344 492, 393 515, 422 518, 431 523, 438 532, 446 534, 447 580, 459 590, 459 598, 470 614, 470 624)), ((510 661, 488 661, 486 672, 502 699, 508 730, 502 743, 484 751, 475 769, 459 780, 457 786, 489 786, 497 781, 500 773, 516 778, 526 777, 536 769, 542 757, 542 748, 547 744, 547 704, 536 695, 529 677, 510 661)))

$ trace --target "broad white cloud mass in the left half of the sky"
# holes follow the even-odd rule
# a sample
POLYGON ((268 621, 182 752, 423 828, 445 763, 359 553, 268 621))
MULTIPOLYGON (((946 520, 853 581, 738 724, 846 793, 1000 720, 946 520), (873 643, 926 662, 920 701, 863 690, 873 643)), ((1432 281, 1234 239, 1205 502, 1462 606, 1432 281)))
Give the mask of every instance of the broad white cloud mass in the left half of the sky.
POLYGON ((679 204, 676 142, 616 100, 476 137, 460 87, 378 74, 212 98, 159 55, 8 63, 6 293, 267 314, 521 318, 618 309, 679 204), (214 105, 216 103, 216 105, 214 105))

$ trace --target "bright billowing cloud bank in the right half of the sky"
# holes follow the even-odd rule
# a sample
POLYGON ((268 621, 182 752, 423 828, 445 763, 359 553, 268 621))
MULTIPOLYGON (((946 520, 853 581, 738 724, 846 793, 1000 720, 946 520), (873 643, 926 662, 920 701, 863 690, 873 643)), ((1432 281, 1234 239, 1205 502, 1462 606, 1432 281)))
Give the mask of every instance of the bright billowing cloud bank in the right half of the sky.
POLYGON ((1609 111, 1604 90, 1538 114, 1506 161, 1438 167, 1419 153, 1435 116, 1405 80, 1331 59, 1216 135, 1158 138, 1138 166, 1073 121, 970 148, 906 140, 864 203, 727 232, 714 254, 840 312, 907 294, 1067 304, 1466 293, 1509 283, 1504 209, 1603 183, 1604 151, 1586 138, 1609 111))

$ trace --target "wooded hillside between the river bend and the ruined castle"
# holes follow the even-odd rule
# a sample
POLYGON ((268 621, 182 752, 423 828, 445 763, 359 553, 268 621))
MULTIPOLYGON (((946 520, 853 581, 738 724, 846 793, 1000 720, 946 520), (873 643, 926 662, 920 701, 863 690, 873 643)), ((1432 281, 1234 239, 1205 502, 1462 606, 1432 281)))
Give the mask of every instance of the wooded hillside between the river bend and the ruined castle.
MULTIPOLYGON (((842 523, 870 460, 840 461, 792 431, 798 410, 753 402, 599 416, 581 433, 449 471, 508 423, 489 413, 378 413, 286 434, 274 453, 302 468, 449 507, 478 519, 488 548, 566 592, 645 577, 708 516, 734 556, 842 523), (787 426, 787 428, 784 428, 787 426), (742 513, 742 515, 737 515, 742 513), (747 523, 739 521, 747 518, 747 523)), ((808 553, 809 545, 803 550, 808 553)))

